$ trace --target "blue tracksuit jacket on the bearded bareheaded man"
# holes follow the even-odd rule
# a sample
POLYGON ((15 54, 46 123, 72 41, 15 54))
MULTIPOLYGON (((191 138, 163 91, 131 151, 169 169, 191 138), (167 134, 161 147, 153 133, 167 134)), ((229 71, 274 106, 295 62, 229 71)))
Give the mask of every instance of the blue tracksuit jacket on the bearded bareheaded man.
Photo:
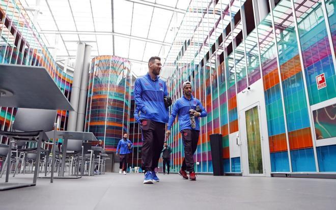
POLYGON ((135 80, 134 100, 141 111, 139 120, 150 119, 159 123, 169 120, 168 109, 165 108, 163 97, 167 96, 165 82, 158 76, 152 80, 149 73, 135 80))

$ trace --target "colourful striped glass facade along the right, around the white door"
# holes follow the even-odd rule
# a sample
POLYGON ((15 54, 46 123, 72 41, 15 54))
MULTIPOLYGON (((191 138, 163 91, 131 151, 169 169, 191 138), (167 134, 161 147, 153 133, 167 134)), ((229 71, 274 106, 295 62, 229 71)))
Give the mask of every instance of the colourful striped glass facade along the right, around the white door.
MULTIPOLYGON (((336 172, 335 10, 332 0, 191 1, 162 76, 173 102, 189 80, 208 111, 194 155, 198 172, 212 172, 213 133, 223 136, 227 173, 336 172), (246 139, 258 136, 247 124, 253 107, 258 172, 248 168, 254 151, 246 139)), ((177 172, 184 156, 177 121, 169 144, 177 172)))

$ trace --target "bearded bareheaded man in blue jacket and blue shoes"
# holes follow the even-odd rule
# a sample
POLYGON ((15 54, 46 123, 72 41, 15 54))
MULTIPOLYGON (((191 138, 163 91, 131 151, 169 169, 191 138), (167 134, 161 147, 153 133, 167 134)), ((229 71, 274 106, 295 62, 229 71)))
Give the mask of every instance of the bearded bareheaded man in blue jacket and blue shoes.
POLYGON ((165 124, 169 120, 168 108, 163 97, 168 95, 165 82, 159 78, 161 58, 151 57, 148 61, 148 73, 138 77, 134 85, 134 100, 139 110, 143 147, 142 169, 145 171, 144 184, 159 182, 155 168, 163 147, 165 124))

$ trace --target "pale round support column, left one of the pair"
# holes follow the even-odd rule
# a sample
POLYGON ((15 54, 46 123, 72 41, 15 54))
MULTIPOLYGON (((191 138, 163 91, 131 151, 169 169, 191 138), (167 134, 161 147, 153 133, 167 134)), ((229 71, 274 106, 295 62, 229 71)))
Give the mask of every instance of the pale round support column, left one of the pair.
POLYGON ((73 83, 70 98, 70 103, 74 110, 69 111, 68 128, 67 128, 68 131, 76 130, 77 111, 78 111, 78 102, 80 93, 80 80, 83 70, 84 52, 85 52, 85 43, 79 42, 77 46, 76 64, 73 73, 73 83))

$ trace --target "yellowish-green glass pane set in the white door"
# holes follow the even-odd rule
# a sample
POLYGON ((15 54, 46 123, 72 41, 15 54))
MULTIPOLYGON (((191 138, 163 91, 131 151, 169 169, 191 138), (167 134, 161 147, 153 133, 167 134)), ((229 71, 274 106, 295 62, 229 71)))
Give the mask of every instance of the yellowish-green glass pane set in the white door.
POLYGON ((249 173, 263 173, 258 106, 245 111, 249 173))

